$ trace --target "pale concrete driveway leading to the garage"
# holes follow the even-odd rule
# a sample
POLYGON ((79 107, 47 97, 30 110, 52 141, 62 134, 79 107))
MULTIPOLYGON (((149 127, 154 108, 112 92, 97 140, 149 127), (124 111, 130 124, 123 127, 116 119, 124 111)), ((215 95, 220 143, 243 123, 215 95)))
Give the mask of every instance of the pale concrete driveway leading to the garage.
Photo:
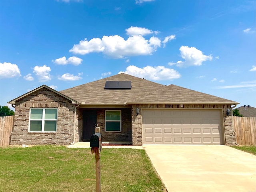
POLYGON ((256 156, 228 146, 143 145, 168 192, 256 192, 256 156))

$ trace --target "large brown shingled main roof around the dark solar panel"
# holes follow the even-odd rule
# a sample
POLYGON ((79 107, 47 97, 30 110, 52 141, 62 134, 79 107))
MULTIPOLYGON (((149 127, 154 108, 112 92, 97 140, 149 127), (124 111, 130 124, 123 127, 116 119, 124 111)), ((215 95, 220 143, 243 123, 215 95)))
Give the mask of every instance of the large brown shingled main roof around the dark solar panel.
POLYGON ((70 89, 60 93, 86 105, 125 104, 239 104, 238 102, 204 94, 176 85, 165 86, 128 74, 118 74, 70 89), (131 81, 132 88, 104 89, 106 81, 131 81))

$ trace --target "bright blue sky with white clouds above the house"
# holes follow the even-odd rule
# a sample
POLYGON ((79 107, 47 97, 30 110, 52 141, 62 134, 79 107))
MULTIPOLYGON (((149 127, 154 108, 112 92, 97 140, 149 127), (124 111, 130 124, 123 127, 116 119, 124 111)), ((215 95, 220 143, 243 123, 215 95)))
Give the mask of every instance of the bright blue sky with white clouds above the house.
POLYGON ((256 107, 255 0, 1 0, 0 105, 125 72, 256 107))

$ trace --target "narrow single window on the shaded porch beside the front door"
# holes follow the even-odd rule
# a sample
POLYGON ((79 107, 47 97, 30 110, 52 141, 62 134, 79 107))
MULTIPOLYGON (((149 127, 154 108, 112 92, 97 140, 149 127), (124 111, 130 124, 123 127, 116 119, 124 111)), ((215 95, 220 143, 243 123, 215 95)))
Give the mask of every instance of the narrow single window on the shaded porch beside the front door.
POLYGON ((121 111, 105 111, 105 131, 121 131, 121 111))

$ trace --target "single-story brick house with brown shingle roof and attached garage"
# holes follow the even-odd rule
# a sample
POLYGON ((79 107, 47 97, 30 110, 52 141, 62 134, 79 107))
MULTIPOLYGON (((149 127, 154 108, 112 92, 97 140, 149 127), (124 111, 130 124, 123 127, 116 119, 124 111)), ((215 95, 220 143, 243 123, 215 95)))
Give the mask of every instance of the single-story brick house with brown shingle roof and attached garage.
POLYGON ((9 104, 12 145, 89 141, 96 126, 103 142, 134 146, 236 144, 227 112, 238 102, 124 73, 60 92, 42 85, 9 104))

